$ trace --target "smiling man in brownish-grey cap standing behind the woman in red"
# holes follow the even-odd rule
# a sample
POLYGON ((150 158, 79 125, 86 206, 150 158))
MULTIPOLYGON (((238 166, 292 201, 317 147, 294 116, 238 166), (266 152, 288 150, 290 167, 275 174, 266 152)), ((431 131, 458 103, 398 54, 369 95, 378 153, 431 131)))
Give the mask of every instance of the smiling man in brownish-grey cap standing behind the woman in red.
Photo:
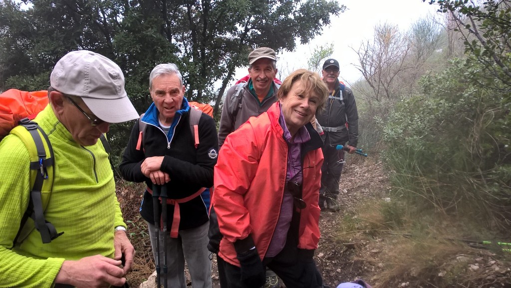
MULTIPOLYGON (((238 129, 248 118, 257 117, 266 112, 268 108, 277 101, 277 91, 280 84, 275 83, 277 74, 277 56, 273 49, 261 47, 254 49, 248 54, 248 75, 246 83, 238 83, 229 88, 225 96, 220 127, 218 128, 218 147, 221 148, 227 135, 238 129)), ((218 254, 220 239, 222 235, 218 229, 215 210, 210 210, 210 231, 208 233, 210 243, 208 249, 218 254)), ((217 260, 222 261, 220 257, 217 260)), ((218 265, 221 269, 221 265, 218 265)), ((266 273, 265 288, 278 288, 280 283, 271 270, 266 273)), ((227 287, 225 283, 220 285, 227 287), (222 285, 223 284, 223 285, 222 285)))

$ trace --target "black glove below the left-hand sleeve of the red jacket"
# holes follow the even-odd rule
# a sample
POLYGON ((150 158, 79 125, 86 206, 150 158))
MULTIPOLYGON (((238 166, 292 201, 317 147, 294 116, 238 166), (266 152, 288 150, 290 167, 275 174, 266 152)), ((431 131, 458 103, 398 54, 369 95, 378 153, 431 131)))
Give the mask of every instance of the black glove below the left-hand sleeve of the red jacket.
POLYGON ((266 271, 257 249, 238 253, 241 265, 241 281, 249 288, 260 288, 266 281, 266 271))

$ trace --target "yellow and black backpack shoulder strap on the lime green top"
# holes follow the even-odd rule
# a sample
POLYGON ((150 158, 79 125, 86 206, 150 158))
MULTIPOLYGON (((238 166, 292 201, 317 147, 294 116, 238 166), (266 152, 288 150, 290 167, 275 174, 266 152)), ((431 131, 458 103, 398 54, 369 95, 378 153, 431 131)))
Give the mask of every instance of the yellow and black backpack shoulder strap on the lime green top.
POLYGON ((63 234, 63 232, 57 233, 55 227, 44 219, 44 211, 50 201, 53 186, 55 156, 52 145, 41 127, 29 119, 20 120, 20 125, 12 129, 11 133, 16 135, 29 151, 30 184, 32 185, 29 206, 21 219, 14 243, 21 243, 34 228, 41 234, 42 242, 49 243, 63 234), (30 223, 28 223, 29 220, 30 223))

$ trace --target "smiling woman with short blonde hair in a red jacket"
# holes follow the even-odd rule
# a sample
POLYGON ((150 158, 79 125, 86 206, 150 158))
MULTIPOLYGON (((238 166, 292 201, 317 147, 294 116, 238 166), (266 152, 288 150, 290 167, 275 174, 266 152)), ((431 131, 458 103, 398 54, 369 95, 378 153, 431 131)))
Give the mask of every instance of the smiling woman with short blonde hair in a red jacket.
POLYGON ((322 141, 310 122, 327 97, 317 73, 297 70, 278 102, 226 138, 212 203, 224 235, 219 273, 229 288, 261 287, 264 265, 287 287, 323 286, 313 260, 322 141))

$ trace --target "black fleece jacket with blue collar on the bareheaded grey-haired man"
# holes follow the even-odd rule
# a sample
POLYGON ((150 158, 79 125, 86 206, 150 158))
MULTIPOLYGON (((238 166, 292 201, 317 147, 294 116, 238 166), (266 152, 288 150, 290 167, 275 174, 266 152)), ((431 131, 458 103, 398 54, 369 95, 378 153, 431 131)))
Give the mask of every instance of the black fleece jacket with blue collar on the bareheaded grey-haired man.
MULTIPOLYGON (((149 107, 142 118, 147 128, 143 146, 136 150, 138 141, 138 122, 131 131, 128 146, 123 154, 120 165, 124 179, 133 182, 145 181, 149 187, 152 183, 141 171, 141 164, 146 157, 165 156, 161 163, 161 170, 170 175, 170 182, 166 184, 169 198, 181 199, 197 192, 201 187, 213 186, 213 167, 218 156, 218 136, 215 121, 205 113, 199 121, 199 142, 197 148, 190 129, 190 106, 183 99, 181 110, 176 112, 174 121, 166 136, 157 127, 157 109, 154 103, 149 107), (170 140, 169 140, 170 139, 170 140)), ((180 222, 179 230, 195 228, 208 220, 207 206, 199 195, 189 202, 179 204, 180 222)), ((172 226, 174 206, 168 205, 168 227, 172 226)), ((148 191, 144 193, 141 210, 142 217, 154 224, 153 201, 148 191)))

